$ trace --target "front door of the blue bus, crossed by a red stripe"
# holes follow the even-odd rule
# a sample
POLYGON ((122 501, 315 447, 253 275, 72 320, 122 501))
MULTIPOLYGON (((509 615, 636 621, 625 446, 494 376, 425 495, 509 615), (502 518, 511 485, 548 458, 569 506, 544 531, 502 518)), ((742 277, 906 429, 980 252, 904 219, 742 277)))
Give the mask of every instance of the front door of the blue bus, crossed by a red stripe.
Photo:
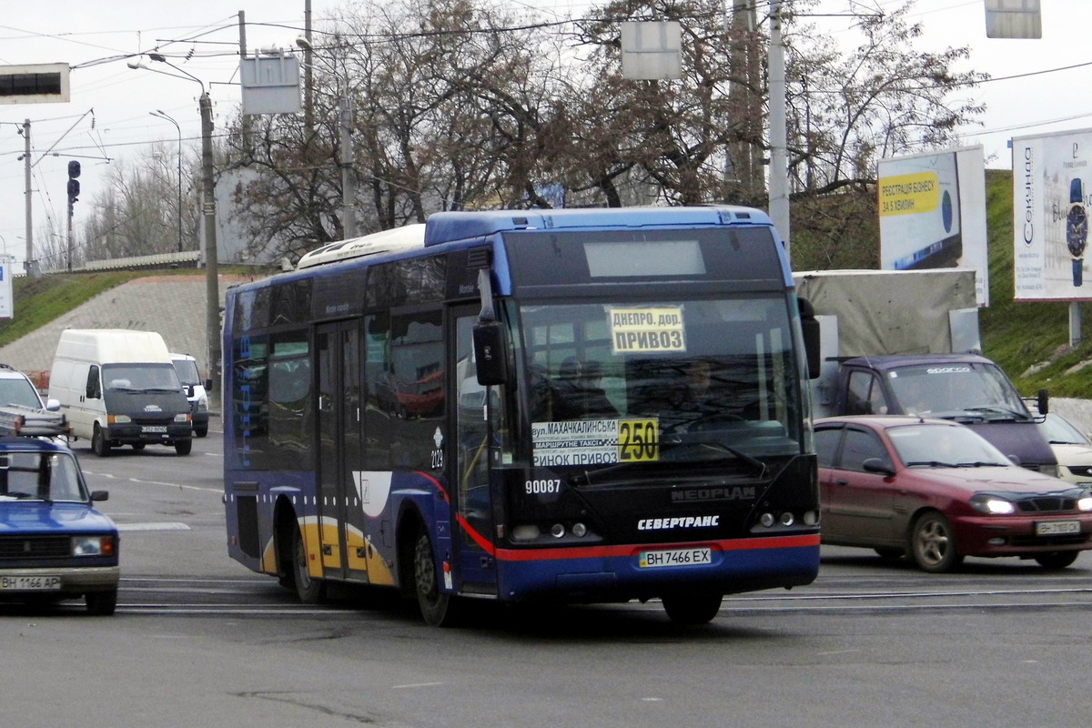
POLYGON ((454 361, 451 378, 455 390, 455 438, 449 449, 448 482, 454 486, 458 535, 453 539, 458 551, 462 590, 496 594, 497 565, 494 559, 496 529, 492 498, 489 488, 489 422, 486 419, 488 389, 478 384, 474 363, 471 331, 477 321, 478 306, 459 307, 453 311, 454 361))

